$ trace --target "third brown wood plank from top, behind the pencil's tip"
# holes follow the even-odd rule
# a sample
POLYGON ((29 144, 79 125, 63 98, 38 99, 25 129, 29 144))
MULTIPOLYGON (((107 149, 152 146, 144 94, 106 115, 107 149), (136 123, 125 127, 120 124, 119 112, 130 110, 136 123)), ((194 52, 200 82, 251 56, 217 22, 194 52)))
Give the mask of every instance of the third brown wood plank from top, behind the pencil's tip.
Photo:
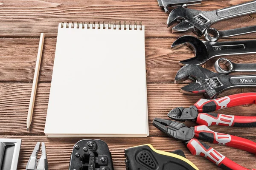
MULTIPOLYGON (((187 96, 179 92, 183 85, 175 84, 148 84, 148 117, 150 136, 165 136, 164 133, 152 125, 154 118, 169 119, 167 113, 173 108, 193 105, 202 96, 187 96)), ((0 83, 0 134, 2 135, 44 135, 44 125, 47 115, 50 83, 40 83, 35 100, 35 108, 31 129, 26 130, 26 117, 29 108, 29 99, 32 84, 28 83, 0 83), (11 120, 11 121, 10 121, 11 120)), ((251 89, 244 89, 250 92, 251 89)), ((230 90, 222 94, 241 93, 230 90)), ((256 105, 227 108, 218 113, 231 115, 256 116, 256 105)), ((195 123, 185 122, 187 126, 195 123)), ((238 128, 212 126, 212 130, 220 133, 229 133, 236 136, 256 136, 256 127, 238 128)))

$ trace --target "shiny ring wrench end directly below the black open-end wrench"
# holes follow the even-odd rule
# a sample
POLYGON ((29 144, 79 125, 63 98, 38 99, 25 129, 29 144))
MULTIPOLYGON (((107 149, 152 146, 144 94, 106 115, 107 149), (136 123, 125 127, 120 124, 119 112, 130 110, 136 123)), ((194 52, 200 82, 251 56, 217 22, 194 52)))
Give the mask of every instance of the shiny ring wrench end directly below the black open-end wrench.
POLYGON ((256 63, 236 64, 228 59, 220 58, 214 64, 215 70, 220 74, 230 74, 232 72, 253 72, 256 71, 256 63), (227 66, 228 71, 221 68, 220 63, 227 66))

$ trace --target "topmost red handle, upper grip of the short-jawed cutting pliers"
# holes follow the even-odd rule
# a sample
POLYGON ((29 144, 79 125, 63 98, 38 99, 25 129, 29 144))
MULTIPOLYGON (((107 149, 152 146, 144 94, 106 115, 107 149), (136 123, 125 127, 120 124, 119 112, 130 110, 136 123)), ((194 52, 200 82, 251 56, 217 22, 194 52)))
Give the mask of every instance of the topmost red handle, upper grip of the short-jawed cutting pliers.
POLYGON ((200 99, 195 103, 195 107, 198 108, 198 113, 209 113, 239 105, 255 104, 255 102, 256 93, 241 93, 212 100, 200 99))

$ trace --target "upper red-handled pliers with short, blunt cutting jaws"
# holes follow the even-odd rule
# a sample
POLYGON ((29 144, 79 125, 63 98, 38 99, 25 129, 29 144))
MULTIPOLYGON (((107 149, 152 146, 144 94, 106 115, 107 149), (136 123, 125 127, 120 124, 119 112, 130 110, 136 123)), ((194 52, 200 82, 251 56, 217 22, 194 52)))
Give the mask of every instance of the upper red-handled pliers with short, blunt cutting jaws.
POLYGON ((200 99, 190 108, 175 108, 168 113, 169 118, 184 122, 196 121, 198 125, 221 125, 234 127, 256 127, 256 116, 233 116, 217 113, 224 108, 256 103, 256 93, 241 93, 218 99, 200 99))

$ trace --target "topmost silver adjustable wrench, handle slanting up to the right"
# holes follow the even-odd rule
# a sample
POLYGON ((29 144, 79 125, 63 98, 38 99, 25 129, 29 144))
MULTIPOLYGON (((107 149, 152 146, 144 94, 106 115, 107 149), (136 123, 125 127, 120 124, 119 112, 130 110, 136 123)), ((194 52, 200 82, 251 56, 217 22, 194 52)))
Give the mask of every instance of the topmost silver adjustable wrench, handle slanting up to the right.
POLYGON ((256 0, 214 11, 198 11, 195 9, 177 7, 169 14, 167 26, 169 27, 176 21, 180 22, 180 20, 182 20, 181 23, 172 28, 173 32, 192 30, 201 37, 205 30, 213 23, 253 13, 256 13, 256 0))

